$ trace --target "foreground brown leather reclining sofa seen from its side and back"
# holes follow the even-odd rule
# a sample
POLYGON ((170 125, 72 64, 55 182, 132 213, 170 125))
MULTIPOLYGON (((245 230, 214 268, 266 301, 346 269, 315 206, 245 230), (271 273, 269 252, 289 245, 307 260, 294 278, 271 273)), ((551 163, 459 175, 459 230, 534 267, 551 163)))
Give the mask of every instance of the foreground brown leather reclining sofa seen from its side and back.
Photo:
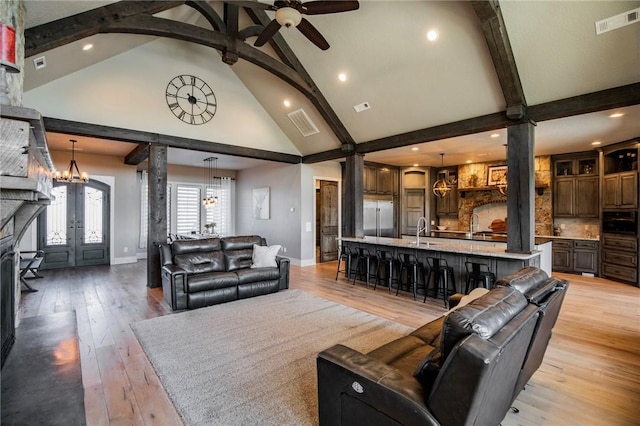
POLYGON ((568 282, 528 267, 496 284, 367 354, 321 352, 320 425, 500 424, 542 362, 568 282))

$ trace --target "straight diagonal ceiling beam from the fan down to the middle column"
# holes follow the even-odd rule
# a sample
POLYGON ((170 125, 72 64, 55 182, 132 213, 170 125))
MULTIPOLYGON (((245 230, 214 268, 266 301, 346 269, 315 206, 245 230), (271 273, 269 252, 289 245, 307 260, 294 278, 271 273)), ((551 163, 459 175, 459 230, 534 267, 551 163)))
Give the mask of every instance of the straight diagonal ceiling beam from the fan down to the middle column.
MULTIPOLYGON (((269 22, 271 22, 271 18, 269 18, 264 10, 246 8, 245 11, 255 24, 266 27, 269 22)), ((338 115, 335 113, 333 108, 331 108, 331 105, 329 105, 329 102, 320 91, 320 88, 316 86, 316 83, 313 81, 304 66, 302 66, 302 63, 293 53, 293 50, 291 50, 287 42, 284 40, 284 37, 282 37, 280 33, 276 33, 269 43, 275 50, 278 57, 285 64, 288 64, 296 70, 302 79, 309 85, 310 92, 305 95, 311 101, 313 106, 316 107, 322 118, 327 122, 338 140, 343 144, 355 143, 353 137, 347 131, 347 128, 344 126, 342 121, 340 121, 338 115)))

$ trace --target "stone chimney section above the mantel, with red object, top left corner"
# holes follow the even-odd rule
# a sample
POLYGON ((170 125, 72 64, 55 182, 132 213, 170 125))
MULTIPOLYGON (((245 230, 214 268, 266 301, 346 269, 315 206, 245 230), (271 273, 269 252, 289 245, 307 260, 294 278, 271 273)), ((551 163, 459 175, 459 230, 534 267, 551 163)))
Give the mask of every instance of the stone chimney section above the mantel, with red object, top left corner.
POLYGON ((22 105, 25 16, 23 0, 0 1, 0 108, 22 105))

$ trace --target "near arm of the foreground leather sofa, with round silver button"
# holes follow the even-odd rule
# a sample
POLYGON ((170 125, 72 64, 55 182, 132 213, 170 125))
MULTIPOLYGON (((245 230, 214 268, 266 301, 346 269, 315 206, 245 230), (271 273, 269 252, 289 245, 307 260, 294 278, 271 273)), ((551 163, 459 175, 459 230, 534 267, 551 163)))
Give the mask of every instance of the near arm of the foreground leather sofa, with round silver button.
POLYGON ((343 345, 317 358, 320 425, 438 425, 412 376, 343 345))

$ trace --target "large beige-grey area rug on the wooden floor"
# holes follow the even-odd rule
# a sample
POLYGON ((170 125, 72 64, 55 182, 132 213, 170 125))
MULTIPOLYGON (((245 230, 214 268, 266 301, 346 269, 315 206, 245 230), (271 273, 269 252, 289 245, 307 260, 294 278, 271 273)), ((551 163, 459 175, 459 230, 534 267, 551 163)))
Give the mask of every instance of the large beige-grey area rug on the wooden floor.
POLYGON ((367 352, 408 327, 300 290, 131 325, 185 424, 316 425, 316 356, 367 352))

